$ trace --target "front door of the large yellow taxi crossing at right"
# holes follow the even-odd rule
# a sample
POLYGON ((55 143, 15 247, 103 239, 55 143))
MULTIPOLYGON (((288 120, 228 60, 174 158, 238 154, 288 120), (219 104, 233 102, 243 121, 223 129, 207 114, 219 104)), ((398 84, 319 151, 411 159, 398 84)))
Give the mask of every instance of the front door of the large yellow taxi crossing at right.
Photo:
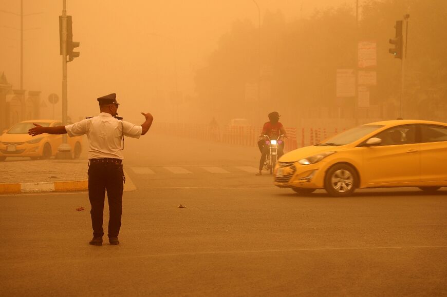
POLYGON ((420 144, 416 126, 402 125, 379 132, 373 137, 382 142, 364 146, 361 176, 368 186, 407 186, 420 180, 420 144))

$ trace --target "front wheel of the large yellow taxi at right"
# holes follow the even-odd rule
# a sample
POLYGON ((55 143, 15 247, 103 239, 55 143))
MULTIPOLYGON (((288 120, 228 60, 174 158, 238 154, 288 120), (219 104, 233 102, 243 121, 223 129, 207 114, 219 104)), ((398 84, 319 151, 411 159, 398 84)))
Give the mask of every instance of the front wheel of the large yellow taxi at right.
POLYGON ((358 185, 356 170, 346 164, 334 165, 326 173, 324 188, 333 197, 351 195, 358 185))

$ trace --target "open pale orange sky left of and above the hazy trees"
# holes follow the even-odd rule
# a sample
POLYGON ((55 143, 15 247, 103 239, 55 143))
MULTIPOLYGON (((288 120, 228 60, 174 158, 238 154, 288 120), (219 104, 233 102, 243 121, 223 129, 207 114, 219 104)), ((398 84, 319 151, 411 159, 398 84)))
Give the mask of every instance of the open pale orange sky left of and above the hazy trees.
MULTIPOLYGON (((256 0, 261 18, 281 11, 286 21, 310 17, 315 9, 356 0, 256 0)), ((20 86, 20 0, 0 0, 0 73, 14 89, 20 86), (15 13, 15 14, 14 14, 15 13)), ((59 21, 62 0, 23 0, 26 90, 62 94, 59 21)), ((144 101, 151 82, 159 80, 160 96, 177 85, 182 96, 194 95, 195 70, 207 63, 222 34, 237 19, 255 27, 253 0, 72 1, 73 39, 81 56, 68 63, 69 114, 96 111, 95 98, 116 92, 122 101, 144 101)), ((132 104, 131 106, 135 106, 132 104)), ((147 106, 147 109, 150 109, 147 106)), ((91 113, 91 112, 90 112, 91 113)))

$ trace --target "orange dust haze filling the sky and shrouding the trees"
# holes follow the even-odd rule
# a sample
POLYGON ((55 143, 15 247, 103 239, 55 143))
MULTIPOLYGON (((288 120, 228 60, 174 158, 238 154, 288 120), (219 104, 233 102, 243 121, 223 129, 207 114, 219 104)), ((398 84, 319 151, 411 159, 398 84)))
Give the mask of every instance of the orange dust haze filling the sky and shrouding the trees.
MULTIPOLYGON (((0 72, 12 89, 20 88, 20 7, 0 2, 0 72)), ((41 91, 42 117, 50 117, 48 95, 62 97, 62 1, 23 0, 23 10, 23 88, 41 91)), ((262 126, 273 110, 298 130, 402 114, 445 122, 446 13, 443 0, 67 0, 81 53, 68 63, 68 115, 96 115, 96 98, 115 92, 121 116, 141 124, 140 112, 149 111, 154 129, 213 117, 220 126, 233 118, 262 126), (401 60, 388 53, 388 39, 404 14, 410 17, 401 96, 401 60), (366 104, 337 94, 337 71, 358 68, 362 41, 377 45, 376 65, 361 69, 377 73, 366 104)), ((61 102, 55 109, 61 118, 61 102)))

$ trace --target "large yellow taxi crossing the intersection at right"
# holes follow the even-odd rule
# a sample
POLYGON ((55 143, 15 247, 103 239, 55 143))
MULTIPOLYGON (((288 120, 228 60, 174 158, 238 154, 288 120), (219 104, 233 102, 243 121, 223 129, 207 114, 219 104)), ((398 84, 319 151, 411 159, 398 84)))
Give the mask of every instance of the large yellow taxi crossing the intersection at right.
POLYGON ((325 189, 349 196, 356 188, 447 186, 447 124, 422 120, 370 123, 284 154, 274 184, 307 194, 325 189))

